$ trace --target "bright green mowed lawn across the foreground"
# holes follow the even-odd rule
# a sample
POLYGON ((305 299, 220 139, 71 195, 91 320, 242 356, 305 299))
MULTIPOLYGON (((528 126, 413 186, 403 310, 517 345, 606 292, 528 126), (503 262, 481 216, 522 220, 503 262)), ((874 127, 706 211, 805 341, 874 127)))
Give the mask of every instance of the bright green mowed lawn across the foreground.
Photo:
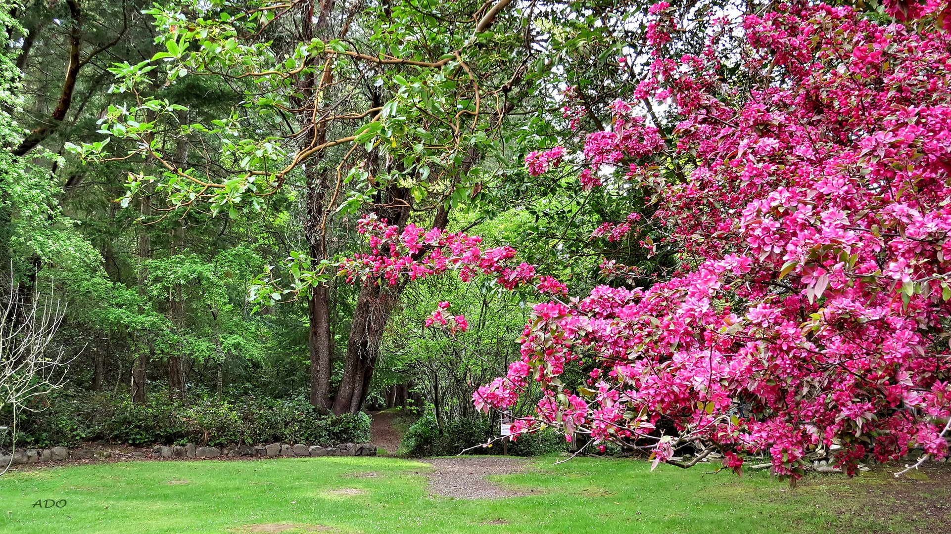
MULTIPOLYGON (((396 458, 14 471, 0 477, 0 532, 838 533, 907 532, 914 523, 911 517, 871 525, 863 519, 888 499, 880 491, 894 484, 886 472, 853 480, 817 477, 790 489, 762 472, 741 479, 707 474, 711 467, 704 466, 661 466, 651 473, 649 464, 632 460, 553 461, 534 459, 524 472, 492 477, 529 493, 495 500, 434 497, 426 479, 431 468, 396 458), (46 499, 67 504, 33 506, 46 499)), ((944 486, 936 497, 947 503, 951 485, 944 486)))

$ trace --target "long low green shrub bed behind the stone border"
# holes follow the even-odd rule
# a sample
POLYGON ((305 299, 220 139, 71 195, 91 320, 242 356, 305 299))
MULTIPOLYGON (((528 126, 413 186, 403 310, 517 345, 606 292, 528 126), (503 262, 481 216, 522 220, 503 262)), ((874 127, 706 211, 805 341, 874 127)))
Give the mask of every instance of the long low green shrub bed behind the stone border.
MULTIPOLYGON (((109 395, 61 392, 44 410, 20 421, 18 442, 28 447, 74 447, 83 441, 133 446, 195 443, 305 443, 323 447, 370 441, 370 418, 322 415, 306 399, 246 396, 231 401, 197 396, 186 404, 154 393, 146 406, 109 395)), ((7 445, 0 436, 0 447, 7 445)))

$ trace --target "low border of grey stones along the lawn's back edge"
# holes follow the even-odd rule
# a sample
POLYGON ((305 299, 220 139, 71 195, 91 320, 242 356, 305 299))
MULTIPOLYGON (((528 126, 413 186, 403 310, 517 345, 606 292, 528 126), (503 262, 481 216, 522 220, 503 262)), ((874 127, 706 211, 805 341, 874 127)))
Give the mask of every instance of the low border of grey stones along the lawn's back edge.
MULTIPOLYGON (((54 462, 63 460, 105 460, 111 457, 108 450, 92 448, 25 448, 17 450, 12 455, 14 466, 35 464, 37 462, 54 462)), ((236 458, 240 456, 256 456, 266 458, 279 457, 320 457, 320 456, 376 456, 377 448, 370 444, 344 443, 337 447, 323 448, 317 445, 304 444, 289 445, 286 443, 272 443, 270 445, 228 445, 224 448, 195 447, 189 443, 184 446, 167 447, 157 445, 152 448, 152 458, 236 458)), ((142 453, 140 457, 147 457, 142 453)), ((10 464, 10 454, 0 451, 0 467, 10 464)))

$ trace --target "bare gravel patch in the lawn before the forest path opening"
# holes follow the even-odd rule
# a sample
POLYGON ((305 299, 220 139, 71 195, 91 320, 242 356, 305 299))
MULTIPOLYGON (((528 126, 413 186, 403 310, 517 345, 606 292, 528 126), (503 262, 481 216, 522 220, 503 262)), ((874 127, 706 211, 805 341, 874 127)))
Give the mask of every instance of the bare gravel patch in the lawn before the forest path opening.
POLYGON ((436 470, 429 475, 429 489, 437 495, 457 499, 501 499, 527 495, 495 486, 486 475, 516 473, 525 468, 522 458, 465 456, 423 460, 436 470))

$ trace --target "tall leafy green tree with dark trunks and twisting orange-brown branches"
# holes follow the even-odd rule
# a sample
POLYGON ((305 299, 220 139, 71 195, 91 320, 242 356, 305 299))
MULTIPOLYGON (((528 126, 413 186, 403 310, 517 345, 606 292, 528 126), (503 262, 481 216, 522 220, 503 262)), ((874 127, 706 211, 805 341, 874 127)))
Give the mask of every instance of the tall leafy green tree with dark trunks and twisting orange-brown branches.
POLYGON ((76 149, 90 161, 142 159, 163 169, 132 175, 127 201, 154 187, 169 207, 192 209, 201 201, 212 214, 236 218, 270 198, 302 198, 306 250, 269 271, 262 283, 271 287, 254 295, 265 304, 307 300, 312 402, 355 412, 404 286, 361 284, 331 405, 333 273, 326 266, 341 249, 330 243, 347 235, 348 216, 361 208, 398 227, 428 219, 446 228, 452 210, 478 200, 498 170, 487 155, 509 139, 503 126, 538 76, 530 68, 532 32, 507 5, 341 5, 344 17, 329 4, 318 14, 309 1, 156 8, 150 13, 165 50, 113 68, 120 79, 114 90, 134 94, 135 102, 110 107, 103 129, 107 141, 132 146, 124 153, 106 142, 76 149), (166 84, 211 77, 240 91, 243 104, 183 124, 187 106, 148 90, 157 66, 166 84), (154 132, 173 128, 199 162, 182 164, 162 150, 154 132))

